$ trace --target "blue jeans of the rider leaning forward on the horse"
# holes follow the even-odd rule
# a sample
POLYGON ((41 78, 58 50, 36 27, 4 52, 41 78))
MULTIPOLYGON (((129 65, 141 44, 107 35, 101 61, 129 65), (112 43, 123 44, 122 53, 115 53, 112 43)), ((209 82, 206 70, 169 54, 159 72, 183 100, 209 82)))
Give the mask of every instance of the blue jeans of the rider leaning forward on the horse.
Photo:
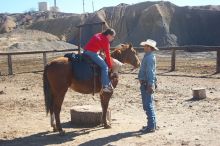
POLYGON ((110 80, 108 77, 108 66, 105 61, 97 53, 91 51, 85 51, 84 53, 91 57, 91 59, 101 68, 102 86, 108 86, 110 84, 110 80))

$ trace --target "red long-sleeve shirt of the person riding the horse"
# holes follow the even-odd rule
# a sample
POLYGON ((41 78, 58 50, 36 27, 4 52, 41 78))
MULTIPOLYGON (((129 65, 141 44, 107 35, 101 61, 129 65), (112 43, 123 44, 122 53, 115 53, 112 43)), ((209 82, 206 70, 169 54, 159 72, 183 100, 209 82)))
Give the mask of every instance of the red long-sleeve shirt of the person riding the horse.
POLYGON ((97 53, 98 51, 104 51, 108 67, 112 68, 112 63, 110 60, 110 44, 105 35, 101 33, 95 34, 86 44, 84 49, 94 53, 97 53))

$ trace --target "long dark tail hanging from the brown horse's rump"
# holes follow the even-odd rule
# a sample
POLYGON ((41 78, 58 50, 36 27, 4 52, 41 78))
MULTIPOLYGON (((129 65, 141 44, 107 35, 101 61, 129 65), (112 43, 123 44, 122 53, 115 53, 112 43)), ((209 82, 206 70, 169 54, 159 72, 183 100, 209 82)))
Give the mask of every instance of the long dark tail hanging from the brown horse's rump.
POLYGON ((46 109, 46 114, 48 115, 49 111, 52 108, 52 93, 51 93, 51 88, 50 84, 47 78, 47 70, 48 70, 48 65, 44 67, 44 73, 43 73, 43 88, 44 88, 44 100, 45 100, 45 109, 46 109))

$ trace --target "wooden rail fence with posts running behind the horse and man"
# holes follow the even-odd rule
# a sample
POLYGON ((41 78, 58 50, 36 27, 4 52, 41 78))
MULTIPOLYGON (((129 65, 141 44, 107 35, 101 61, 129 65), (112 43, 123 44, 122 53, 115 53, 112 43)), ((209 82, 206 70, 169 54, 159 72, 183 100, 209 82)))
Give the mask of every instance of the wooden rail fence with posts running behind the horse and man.
MULTIPOLYGON (((138 50, 143 49, 142 47, 134 47, 138 50)), ((114 49, 114 48, 112 48, 114 49)), ((220 73, 220 46, 177 46, 177 47, 160 47, 160 50, 169 50, 172 51, 171 53, 171 70, 175 71, 176 67, 176 50, 184 50, 190 52, 210 52, 216 51, 216 73, 220 73)), ((12 56, 13 55, 24 55, 24 54, 43 54, 43 63, 44 65, 47 64, 47 53, 54 53, 54 52, 70 52, 70 51, 79 51, 79 49, 66 49, 66 50, 51 50, 51 51, 33 51, 33 52, 11 52, 11 53, 0 53, 0 56, 7 56, 8 58, 8 74, 13 74, 12 68, 12 56)))

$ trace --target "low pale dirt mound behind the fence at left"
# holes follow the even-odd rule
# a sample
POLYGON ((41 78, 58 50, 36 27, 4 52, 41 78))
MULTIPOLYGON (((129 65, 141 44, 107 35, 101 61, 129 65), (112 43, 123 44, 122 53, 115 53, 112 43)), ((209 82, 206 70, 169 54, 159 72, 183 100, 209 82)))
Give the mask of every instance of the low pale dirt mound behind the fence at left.
POLYGON ((0 34, 0 52, 63 50, 76 46, 60 41, 57 36, 37 30, 15 30, 0 34))

